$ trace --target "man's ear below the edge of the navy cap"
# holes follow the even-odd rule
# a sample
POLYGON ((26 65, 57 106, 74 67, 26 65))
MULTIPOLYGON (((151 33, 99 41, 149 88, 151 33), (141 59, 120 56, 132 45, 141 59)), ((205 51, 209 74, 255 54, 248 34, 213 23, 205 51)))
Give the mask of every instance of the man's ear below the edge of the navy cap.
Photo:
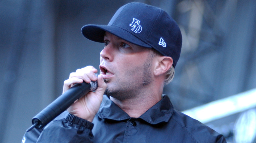
POLYGON ((158 63, 156 63, 156 67, 154 70, 154 75, 158 76, 160 74, 163 74, 167 72, 172 64, 173 64, 173 59, 169 56, 159 56, 158 58, 158 63))

